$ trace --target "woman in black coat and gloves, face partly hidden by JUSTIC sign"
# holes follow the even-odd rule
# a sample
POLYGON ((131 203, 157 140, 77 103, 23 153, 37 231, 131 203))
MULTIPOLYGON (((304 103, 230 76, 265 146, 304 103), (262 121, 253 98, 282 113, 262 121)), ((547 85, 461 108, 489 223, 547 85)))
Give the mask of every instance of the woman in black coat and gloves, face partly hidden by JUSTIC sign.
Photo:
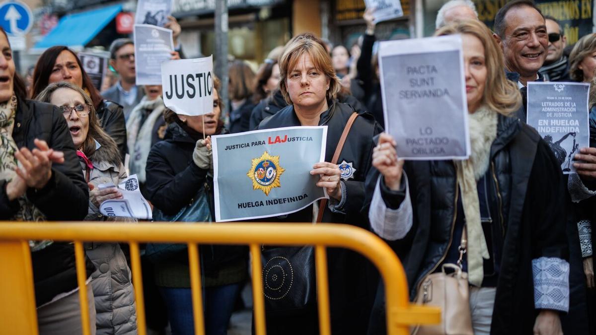
MULTIPOLYGON (((208 222, 213 218, 211 135, 222 134, 219 80, 213 80, 213 110, 201 116, 178 115, 166 108, 166 139, 147 157, 148 198, 153 218, 208 222), (206 138, 205 138, 206 137, 206 138), (206 213, 205 213, 206 212, 206 213)), ((238 246, 200 246, 206 334, 226 334, 234 302, 247 278, 247 252, 238 246)), ((155 281, 166 302, 173 334, 194 334, 188 252, 153 258, 155 281)))

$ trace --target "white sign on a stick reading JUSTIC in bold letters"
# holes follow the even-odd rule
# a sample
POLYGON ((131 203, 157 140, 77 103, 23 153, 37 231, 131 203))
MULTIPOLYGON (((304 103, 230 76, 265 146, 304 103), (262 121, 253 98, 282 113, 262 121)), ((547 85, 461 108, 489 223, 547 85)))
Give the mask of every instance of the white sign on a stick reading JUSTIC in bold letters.
POLYGON ((177 114, 213 110, 213 56, 162 63, 163 103, 177 114))

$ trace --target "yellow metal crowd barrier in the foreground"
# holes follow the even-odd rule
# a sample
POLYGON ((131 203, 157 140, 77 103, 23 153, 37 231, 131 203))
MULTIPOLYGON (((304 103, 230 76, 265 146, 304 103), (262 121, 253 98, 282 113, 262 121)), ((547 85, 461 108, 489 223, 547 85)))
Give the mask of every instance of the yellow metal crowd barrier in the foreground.
POLYGON ((107 224, 0 222, 0 334, 38 334, 33 275, 27 240, 75 241, 77 281, 83 334, 89 335, 83 241, 124 242, 131 246, 131 270, 136 297, 139 335, 147 334, 142 295, 139 243, 187 243, 195 333, 204 333, 201 276, 197 244, 250 246, 253 275, 254 328, 265 335, 265 298, 262 291, 262 244, 315 246, 319 332, 331 334, 326 247, 351 249, 367 257, 383 277, 386 294, 387 334, 409 334, 409 325, 437 324, 440 310, 411 305, 403 267, 397 256, 371 232, 336 224, 107 224))

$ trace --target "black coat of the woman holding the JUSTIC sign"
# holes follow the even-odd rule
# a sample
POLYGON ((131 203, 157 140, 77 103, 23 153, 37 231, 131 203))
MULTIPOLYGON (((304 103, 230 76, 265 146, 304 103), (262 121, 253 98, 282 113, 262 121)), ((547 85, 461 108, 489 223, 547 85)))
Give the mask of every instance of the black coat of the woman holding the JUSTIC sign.
MULTIPOLYGON (((166 139, 153 145, 147 157, 147 200, 167 215, 178 213, 193 201, 199 187, 206 187, 212 218, 215 218, 213 177, 193 161, 196 142, 181 126, 172 123, 167 128, 166 139)), ((247 255, 246 247, 201 246, 201 266, 207 277, 218 277, 219 271, 247 259, 247 255)), ((187 253, 182 252, 172 262, 188 265, 187 253)))

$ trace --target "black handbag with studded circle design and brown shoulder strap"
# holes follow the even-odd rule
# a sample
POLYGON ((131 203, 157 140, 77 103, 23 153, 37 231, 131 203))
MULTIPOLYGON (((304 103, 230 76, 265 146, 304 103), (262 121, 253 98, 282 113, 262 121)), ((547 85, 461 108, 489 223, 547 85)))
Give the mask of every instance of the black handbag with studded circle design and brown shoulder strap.
MULTIPOLYGON (((337 143, 331 163, 337 164, 347 134, 358 117, 352 113, 337 143)), ((316 223, 321 222, 327 199, 319 204, 316 223)), ((316 305, 315 251, 312 246, 273 247, 261 250, 265 310, 269 314, 284 314, 316 305)))

